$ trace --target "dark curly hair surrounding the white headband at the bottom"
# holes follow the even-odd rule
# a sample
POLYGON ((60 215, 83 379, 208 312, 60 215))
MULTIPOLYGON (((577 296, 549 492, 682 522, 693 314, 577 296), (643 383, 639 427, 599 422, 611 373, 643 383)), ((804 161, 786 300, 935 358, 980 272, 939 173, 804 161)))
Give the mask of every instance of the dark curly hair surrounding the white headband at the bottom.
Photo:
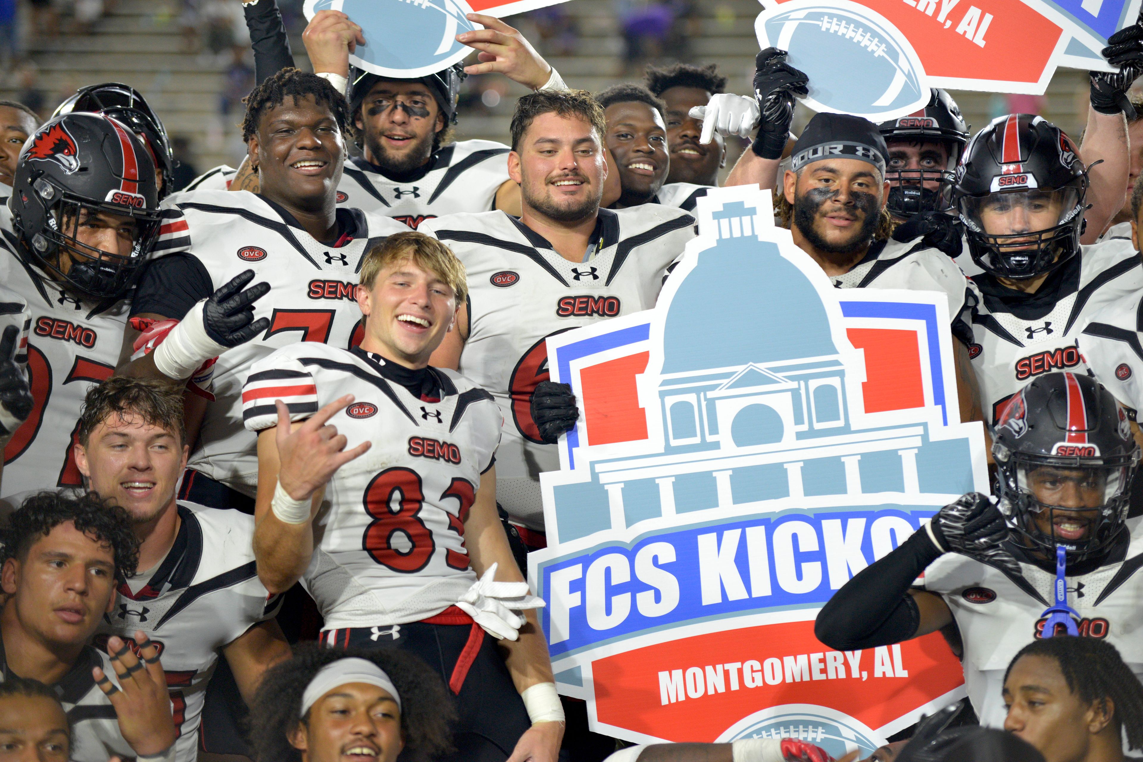
MULTIPOLYGON (((400 649, 376 650, 323 648, 304 643, 294 657, 265 672, 250 704, 250 746, 255 762, 301 762, 289 743, 297 728, 302 693, 327 664, 359 657, 381 667, 401 695, 402 760, 421 762, 451 751, 449 725, 455 717, 445 683, 424 661, 400 649)), ((309 723, 309 713, 301 717, 309 723)))

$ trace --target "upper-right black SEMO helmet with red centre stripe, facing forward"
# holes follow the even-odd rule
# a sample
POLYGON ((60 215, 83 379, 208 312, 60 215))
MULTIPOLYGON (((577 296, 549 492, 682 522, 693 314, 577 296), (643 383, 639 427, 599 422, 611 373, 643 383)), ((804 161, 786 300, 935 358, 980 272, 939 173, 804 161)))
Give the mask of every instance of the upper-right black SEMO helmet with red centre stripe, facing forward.
POLYGON ((1086 194, 1076 144, 1031 114, 999 117, 973 136, 953 186, 973 260, 1013 280, 1042 275, 1079 254, 1086 194))

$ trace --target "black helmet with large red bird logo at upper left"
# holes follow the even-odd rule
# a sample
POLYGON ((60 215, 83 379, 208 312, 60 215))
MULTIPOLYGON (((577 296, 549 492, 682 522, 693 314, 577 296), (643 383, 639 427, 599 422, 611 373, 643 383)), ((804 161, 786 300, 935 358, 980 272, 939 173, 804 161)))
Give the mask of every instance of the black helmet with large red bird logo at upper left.
POLYGON ((24 144, 8 208, 25 262, 85 296, 121 297, 159 234, 151 152, 110 117, 82 112, 56 117, 24 144), (104 212, 135 220, 129 255, 79 241, 80 223, 104 212), (61 266, 64 256, 71 267, 61 266))

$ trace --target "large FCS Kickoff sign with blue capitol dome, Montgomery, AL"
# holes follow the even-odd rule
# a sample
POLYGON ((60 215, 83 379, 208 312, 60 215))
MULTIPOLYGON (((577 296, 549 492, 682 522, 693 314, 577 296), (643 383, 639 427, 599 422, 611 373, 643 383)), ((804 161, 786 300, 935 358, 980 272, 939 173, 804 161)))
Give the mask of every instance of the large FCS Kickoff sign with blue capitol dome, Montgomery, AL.
POLYGON ((547 339, 582 416, 528 556, 559 689, 634 741, 800 735, 868 755, 965 695, 940 635, 840 652, 814 618, 988 491, 943 294, 834 289, 769 192, 712 190, 654 310, 547 339), (767 299, 719 302, 727 273, 767 299), (717 299, 716 299, 717 300, 717 299))

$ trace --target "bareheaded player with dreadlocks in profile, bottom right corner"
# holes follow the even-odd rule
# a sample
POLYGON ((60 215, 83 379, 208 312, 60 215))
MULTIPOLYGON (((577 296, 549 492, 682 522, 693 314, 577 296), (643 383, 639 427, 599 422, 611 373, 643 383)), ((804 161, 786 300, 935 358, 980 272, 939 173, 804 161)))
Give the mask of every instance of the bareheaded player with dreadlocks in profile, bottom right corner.
POLYGON ((1125 735, 1143 748, 1143 684, 1106 641, 1032 641, 1008 665, 1004 703, 1004 729, 1047 762, 1124 762, 1125 735))

